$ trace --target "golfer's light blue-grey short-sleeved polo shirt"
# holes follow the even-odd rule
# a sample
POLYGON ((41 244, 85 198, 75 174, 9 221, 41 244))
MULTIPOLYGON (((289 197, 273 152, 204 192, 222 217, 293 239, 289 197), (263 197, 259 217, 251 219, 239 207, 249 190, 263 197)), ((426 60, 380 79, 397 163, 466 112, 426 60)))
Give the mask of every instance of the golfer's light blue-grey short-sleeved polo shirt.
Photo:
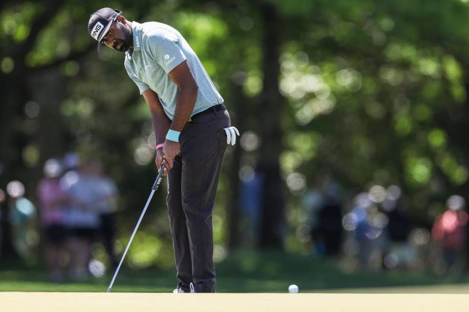
POLYGON ((189 43, 169 25, 159 22, 132 22, 133 52, 126 52, 124 61, 128 76, 137 84, 140 94, 151 89, 172 120, 176 109, 177 85, 168 73, 187 60, 199 87, 192 115, 223 103, 212 80, 189 43))

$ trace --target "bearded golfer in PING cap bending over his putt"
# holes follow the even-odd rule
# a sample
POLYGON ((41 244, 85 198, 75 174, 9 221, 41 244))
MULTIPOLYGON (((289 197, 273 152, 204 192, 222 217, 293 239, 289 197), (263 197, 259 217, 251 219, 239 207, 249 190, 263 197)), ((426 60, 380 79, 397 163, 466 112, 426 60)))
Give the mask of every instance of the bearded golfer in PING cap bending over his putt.
POLYGON ((124 65, 147 102, 156 165, 168 176, 168 214, 179 283, 174 292, 214 292, 212 211, 223 155, 235 127, 212 80, 182 35, 159 22, 93 13, 88 32, 125 52, 124 65))

